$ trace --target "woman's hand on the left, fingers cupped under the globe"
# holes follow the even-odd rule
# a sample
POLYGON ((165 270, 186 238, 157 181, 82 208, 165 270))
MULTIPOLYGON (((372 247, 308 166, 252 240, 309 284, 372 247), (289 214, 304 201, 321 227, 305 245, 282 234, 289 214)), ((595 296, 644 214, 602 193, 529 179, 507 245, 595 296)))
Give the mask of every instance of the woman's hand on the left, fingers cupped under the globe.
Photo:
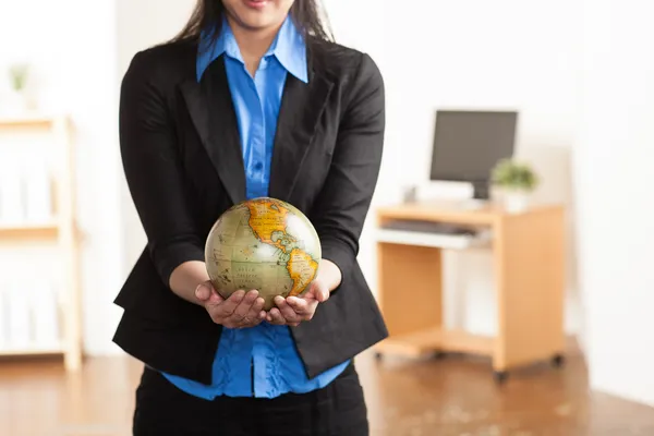
POLYGON ((258 296, 258 291, 237 291, 226 300, 205 281, 195 289, 195 298, 204 303, 214 323, 227 328, 254 327, 266 318, 264 299, 258 296))

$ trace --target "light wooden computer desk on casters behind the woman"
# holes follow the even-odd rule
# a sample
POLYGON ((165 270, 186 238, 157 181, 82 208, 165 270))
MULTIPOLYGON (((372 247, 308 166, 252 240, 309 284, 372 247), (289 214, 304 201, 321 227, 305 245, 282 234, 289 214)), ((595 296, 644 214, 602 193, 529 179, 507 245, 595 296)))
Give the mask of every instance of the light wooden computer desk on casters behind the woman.
POLYGON ((443 325, 441 251, 377 242, 379 303, 390 337, 376 351, 419 356, 434 352, 488 355, 502 382, 516 366, 553 359, 565 347, 565 210, 534 207, 511 215, 497 206, 465 209, 417 203, 377 209, 379 228, 393 219, 438 221, 492 231, 497 336, 477 337, 443 325))

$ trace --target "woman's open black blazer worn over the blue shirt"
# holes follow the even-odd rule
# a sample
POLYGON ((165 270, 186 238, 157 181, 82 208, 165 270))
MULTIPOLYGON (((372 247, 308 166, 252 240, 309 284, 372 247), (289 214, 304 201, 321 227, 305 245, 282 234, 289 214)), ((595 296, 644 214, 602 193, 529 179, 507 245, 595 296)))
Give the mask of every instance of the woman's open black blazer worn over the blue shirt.
MULTIPOLYGON (((287 78, 269 194, 306 214, 323 257, 343 275, 314 318, 291 328, 313 377, 388 335, 356 262, 382 160, 385 96, 367 55, 307 43, 308 83, 287 78)), ((213 62, 198 83, 196 50, 186 41, 141 51, 122 82, 122 161, 148 242, 116 299, 124 313, 113 341, 152 367, 208 384, 221 326, 168 279, 181 263, 204 261, 216 219, 245 199, 245 174, 225 64, 213 62)))

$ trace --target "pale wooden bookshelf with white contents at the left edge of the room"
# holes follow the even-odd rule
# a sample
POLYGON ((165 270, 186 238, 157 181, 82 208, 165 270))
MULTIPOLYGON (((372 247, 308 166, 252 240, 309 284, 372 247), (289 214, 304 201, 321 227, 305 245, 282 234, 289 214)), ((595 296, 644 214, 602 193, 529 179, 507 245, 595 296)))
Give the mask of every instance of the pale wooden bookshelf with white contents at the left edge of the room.
MULTIPOLYGON (((69 371, 77 370, 82 364, 82 332, 81 332, 81 286, 80 286, 80 234, 75 220, 75 150, 72 138, 70 119, 65 116, 27 116, 27 117, 0 117, 0 145, 4 148, 13 146, 11 138, 23 134, 29 137, 37 136, 39 144, 46 147, 56 147, 48 149, 47 155, 51 156, 52 161, 48 162, 47 184, 48 184, 48 204, 51 205, 51 214, 44 217, 43 220, 5 220, 0 216, 0 244, 7 247, 38 247, 39 244, 53 247, 55 255, 51 261, 60 268, 61 279, 52 283, 52 294, 47 304, 53 304, 55 307, 45 307, 51 316, 52 326, 41 325, 41 330, 48 328, 56 329, 49 340, 36 340, 32 335, 25 335, 22 340, 7 339, 10 335, 11 323, 4 319, 2 325, 4 338, 0 337, 0 356, 33 356, 33 355, 52 355, 63 356, 65 368, 69 371), (9 140, 8 140, 9 138, 9 140), (4 144, 2 144, 4 142, 4 144)), ((7 168, 7 167, 5 167, 7 168)), ((35 169, 39 171, 39 169, 35 169)), ((7 179, 5 179, 7 180, 7 179)), ((0 186, 2 187, 2 186, 0 186)), ((0 193, 2 191, 0 190, 0 193)), ((10 249, 11 250, 11 249, 10 249)), ((25 287, 21 292, 27 293, 26 301, 38 301, 39 295, 32 294, 39 291, 38 268, 32 267, 33 277, 21 277, 25 287)), ((7 274, 7 268, 1 272, 7 274)), ((9 271, 11 275, 11 271, 9 271)), ((10 277, 11 278, 11 277, 10 277)), ((7 281, 2 282, 5 283, 7 281)), ((43 289, 43 288, 40 288, 43 289)), ((9 318, 9 306, 12 306, 11 299, 17 293, 3 293, 4 318, 9 318)), ((23 296, 21 295, 21 299, 23 296)), ((46 304, 46 303, 39 303, 46 304)), ((32 323, 37 323, 38 316, 34 313, 34 307, 25 305, 29 315, 23 316, 22 326, 25 330, 35 331, 36 327, 32 323), (25 324, 25 322, 27 324, 25 324)), ((40 310, 44 307, 41 306, 40 310)), ((15 313, 11 314, 15 317, 15 313)), ((2 320, 2 319, 0 319, 2 320)), ((14 324, 13 327, 15 328, 14 324)), ((21 328, 22 329, 22 328, 21 328)), ((46 331, 47 332, 47 331, 46 331)), ((19 335, 20 336, 20 335, 19 335)))

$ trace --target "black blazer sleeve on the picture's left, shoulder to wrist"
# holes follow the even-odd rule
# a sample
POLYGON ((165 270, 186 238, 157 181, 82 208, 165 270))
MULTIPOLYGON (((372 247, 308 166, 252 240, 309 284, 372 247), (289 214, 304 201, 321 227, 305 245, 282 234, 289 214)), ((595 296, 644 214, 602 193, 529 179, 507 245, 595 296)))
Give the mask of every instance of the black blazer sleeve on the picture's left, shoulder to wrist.
POLYGON ((121 85, 119 135, 123 169, 161 280, 174 268, 204 262, 204 244, 190 211, 185 179, 166 94, 156 85, 147 51, 132 60, 121 85))

